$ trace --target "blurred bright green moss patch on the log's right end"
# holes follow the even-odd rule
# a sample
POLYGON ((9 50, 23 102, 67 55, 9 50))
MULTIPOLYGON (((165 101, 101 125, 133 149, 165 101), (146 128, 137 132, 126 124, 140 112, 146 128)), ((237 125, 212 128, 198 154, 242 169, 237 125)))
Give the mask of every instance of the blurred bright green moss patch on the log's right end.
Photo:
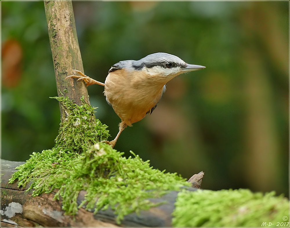
MULTIPOLYGON (((175 227, 261 227, 263 223, 289 222, 289 200, 275 192, 265 195, 239 190, 183 190, 177 196, 175 227)), ((268 225, 267 225, 268 226, 268 225)))

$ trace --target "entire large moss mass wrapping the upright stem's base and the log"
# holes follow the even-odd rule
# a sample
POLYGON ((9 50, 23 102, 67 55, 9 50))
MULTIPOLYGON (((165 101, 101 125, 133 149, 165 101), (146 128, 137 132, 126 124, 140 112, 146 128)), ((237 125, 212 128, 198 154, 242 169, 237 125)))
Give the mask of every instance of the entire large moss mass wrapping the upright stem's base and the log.
POLYGON ((59 189, 64 211, 76 214, 78 207, 95 208, 95 213, 109 206, 115 210, 117 222, 131 213, 156 206, 148 198, 160 197, 171 190, 189 186, 176 173, 165 173, 149 166, 149 161, 123 153, 109 145, 97 143, 108 137, 107 126, 95 119, 94 109, 82 99, 77 106, 68 98, 56 98, 65 107, 68 117, 60 124, 55 147, 42 153, 33 152, 30 159, 17 167, 10 179, 33 189, 33 196, 59 189), (77 197, 87 194, 81 205, 77 197))

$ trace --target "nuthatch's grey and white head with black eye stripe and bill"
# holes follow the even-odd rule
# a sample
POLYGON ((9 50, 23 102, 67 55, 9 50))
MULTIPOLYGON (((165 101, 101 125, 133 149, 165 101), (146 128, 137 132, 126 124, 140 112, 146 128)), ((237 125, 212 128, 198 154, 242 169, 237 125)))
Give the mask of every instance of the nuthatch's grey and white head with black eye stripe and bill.
POLYGON ((167 83, 174 77, 189 71, 204 69, 204 66, 192 65, 181 58, 168 53, 158 52, 150 54, 140 60, 133 61, 134 70, 140 70, 151 78, 167 83))

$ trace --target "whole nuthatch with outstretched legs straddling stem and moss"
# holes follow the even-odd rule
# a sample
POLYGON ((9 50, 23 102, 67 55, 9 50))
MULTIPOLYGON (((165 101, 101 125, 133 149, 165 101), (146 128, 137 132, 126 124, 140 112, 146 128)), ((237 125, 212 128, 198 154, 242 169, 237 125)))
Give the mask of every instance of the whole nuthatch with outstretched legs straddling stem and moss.
POLYGON ((114 64, 109 70, 105 83, 98 82, 78 70, 81 76, 66 78, 84 80, 87 86, 99 84, 105 87, 106 100, 121 118, 119 133, 112 141, 103 141, 115 146, 121 132, 133 123, 140 121, 156 108, 166 83, 176 76, 204 69, 204 66, 191 65, 177 56, 167 53, 154 53, 140 60, 124 60, 114 64))

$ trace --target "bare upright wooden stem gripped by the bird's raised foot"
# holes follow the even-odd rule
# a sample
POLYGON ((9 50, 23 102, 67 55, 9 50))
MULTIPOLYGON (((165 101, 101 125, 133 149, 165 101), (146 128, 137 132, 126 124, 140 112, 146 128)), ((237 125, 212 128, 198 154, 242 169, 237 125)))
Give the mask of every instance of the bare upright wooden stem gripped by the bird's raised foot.
MULTIPOLYGON (((73 69, 84 72, 73 5, 71 1, 44 1, 48 35, 55 69, 55 79, 58 95, 68 91, 66 95, 80 105, 80 98, 84 96, 89 104, 88 91, 83 80, 64 80, 73 74, 73 69)), ((66 118, 64 107, 60 104, 61 121, 66 118)))

